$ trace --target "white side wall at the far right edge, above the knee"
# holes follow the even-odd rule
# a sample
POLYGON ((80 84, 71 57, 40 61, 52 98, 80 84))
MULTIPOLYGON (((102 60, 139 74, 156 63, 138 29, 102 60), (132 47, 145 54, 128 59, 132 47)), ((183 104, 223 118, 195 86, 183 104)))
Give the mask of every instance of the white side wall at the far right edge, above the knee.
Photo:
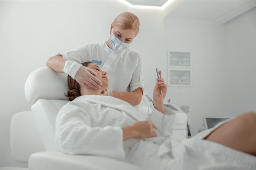
POLYGON ((256 111, 256 8, 227 24, 229 113, 256 111))

